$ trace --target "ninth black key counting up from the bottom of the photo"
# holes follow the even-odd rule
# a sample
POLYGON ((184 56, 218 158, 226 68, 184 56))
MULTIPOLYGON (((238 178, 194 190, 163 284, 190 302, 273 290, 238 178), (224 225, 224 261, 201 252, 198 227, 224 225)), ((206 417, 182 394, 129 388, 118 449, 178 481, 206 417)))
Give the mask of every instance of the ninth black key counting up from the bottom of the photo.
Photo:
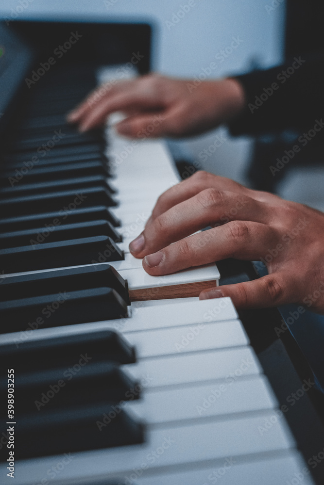
POLYGON ((61 190, 21 197, 0 197, 1 212, 7 216, 30 214, 39 210, 60 211, 72 207, 76 209, 79 206, 92 207, 98 205, 116 206, 116 202, 109 191, 101 186, 85 188, 82 191, 75 188, 75 190, 61 190))

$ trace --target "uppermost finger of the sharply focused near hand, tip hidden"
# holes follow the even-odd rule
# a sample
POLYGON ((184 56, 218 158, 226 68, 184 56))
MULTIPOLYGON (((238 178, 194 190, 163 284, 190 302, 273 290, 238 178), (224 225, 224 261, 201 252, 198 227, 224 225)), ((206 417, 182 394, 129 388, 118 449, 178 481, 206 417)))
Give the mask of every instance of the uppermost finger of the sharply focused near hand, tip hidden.
POLYGON ((210 188, 238 194, 250 194, 253 192, 229 178, 219 177, 200 170, 159 196, 152 212, 152 219, 155 219, 171 207, 180 204, 180 202, 210 188))

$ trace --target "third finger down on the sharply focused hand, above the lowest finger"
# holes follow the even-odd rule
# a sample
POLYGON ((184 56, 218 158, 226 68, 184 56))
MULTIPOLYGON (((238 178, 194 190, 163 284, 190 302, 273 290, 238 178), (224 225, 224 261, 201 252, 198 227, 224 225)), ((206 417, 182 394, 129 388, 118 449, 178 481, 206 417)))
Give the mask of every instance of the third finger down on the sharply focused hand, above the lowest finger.
POLYGON ((233 221, 145 256, 143 268, 150 275, 158 276, 226 258, 256 260, 263 257, 276 240, 277 235, 270 226, 233 221))

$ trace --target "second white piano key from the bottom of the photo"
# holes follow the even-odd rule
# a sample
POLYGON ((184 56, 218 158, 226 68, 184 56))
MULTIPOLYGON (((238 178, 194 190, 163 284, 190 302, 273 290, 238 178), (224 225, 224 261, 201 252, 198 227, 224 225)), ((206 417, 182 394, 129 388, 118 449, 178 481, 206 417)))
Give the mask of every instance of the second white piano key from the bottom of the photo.
MULTIPOLYGON (((136 483, 135 478, 129 478, 136 469, 142 470, 144 477, 154 469, 161 472, 171 466, 176 469, 192 462, 204 464, 207 460, 218 460, 221 466, 227 457, 242 460, 246 459, 245 455, 254 453, 287 453, 294 445, 294 440, 285 421, 278 421, 263 435, 258 430, 271 416, 271 411, 265 411, 248 418, 149 428, 148 441, 144 444, 72 453, 73 459, 62 469, 59 478, 68 480, 80 477, 79 483, 84 483, 87 479, 95 480, 104 476, 107 481, 118 477, 118 483, 132 483, 130 480, 136 483)), ((109 433, 109 424, 102 428, 101 433, 104 432, 109 433)), ((17 463, 16 485, 41 483, 47 470, 60 459, 61 456, 52 456, 17 463)), ((5 473, 5 466, 0 467, 0 472, 5 473)))

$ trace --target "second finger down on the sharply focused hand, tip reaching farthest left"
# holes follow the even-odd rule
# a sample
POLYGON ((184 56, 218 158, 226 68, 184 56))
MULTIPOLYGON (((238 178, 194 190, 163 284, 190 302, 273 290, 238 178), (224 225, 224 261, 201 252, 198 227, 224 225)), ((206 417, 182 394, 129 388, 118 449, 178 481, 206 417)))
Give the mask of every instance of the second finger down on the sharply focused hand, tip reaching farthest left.
POLYGON ((222 225, 230 220, 266 224, 267 206, 244 195, 205 189, 150 219, 129 248, 134 256, 143 258, 206 226, 222 225))

